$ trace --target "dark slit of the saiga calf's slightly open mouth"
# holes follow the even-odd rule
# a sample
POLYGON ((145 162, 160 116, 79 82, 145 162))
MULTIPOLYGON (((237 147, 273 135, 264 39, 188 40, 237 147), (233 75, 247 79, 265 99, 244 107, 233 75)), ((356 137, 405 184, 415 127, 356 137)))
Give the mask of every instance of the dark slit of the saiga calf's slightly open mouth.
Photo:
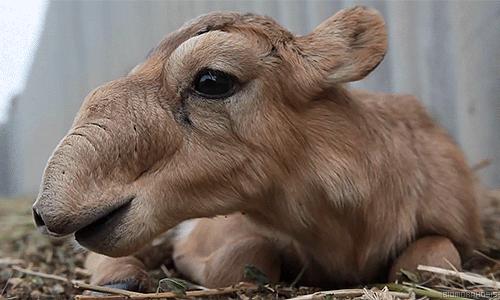
POLYGON ((135 197, 130 197, 124 200, 124 204, 111 210, 107 214, 99 217, 89 225, 77 230, 75 232, 75 239, 82 245, 86 244, 86 241, 93 240, 97 236, 103 236, 104 233, 110 232, 117 225, 120 224, 121 219, 127 214, 132 205, 132 200, 135 197))

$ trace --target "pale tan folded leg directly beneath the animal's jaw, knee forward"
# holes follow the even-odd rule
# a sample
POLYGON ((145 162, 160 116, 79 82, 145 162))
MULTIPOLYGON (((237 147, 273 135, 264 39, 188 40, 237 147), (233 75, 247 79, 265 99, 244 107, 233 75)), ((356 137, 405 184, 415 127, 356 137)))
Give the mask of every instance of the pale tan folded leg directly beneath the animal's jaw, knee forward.
POLYGON ((185 276, 206 287, 223 287, 244 281, 245 266, 252 265, 272 282, 279 281, 281 261, 277 248, 258 234, 244 216, 196 222, 174 245, 174 263, 185 276))

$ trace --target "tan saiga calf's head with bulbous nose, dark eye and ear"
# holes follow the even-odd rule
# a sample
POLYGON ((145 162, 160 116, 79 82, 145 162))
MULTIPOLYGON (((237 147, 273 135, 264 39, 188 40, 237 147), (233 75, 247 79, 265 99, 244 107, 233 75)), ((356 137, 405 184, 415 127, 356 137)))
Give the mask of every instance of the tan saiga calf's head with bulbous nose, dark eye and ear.
POLYGON ((384 22, 364 7, 305 36, 256 15, 201 16, 86 97, 46 166, 36 224, 120 256, 185 219, 265 206, 306 163, 310 104, 385 51, 384 22))

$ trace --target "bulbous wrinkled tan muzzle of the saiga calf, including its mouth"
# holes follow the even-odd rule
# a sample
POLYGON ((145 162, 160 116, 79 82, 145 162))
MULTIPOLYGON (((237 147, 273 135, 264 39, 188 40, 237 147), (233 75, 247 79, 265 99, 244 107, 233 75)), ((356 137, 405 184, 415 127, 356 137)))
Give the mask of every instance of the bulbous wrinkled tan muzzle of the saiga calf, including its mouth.
POLYGON ((175 124, 158 104, 153 86, 123 79, 87 97, 46 166, 33 205, 41 232, 74 233, 80 244, 101 253, 131 251, 127 237, 132 235, 150 238, 147 226, 144 232, 129 232, 130 224, 148 215, 140 179, 176 144, 175 124))

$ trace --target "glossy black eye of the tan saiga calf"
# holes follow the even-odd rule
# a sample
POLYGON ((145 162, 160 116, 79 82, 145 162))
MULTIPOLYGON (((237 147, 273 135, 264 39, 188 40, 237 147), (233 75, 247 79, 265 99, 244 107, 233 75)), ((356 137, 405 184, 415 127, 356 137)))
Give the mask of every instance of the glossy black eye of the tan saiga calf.
POLYGON ((202 70, 194 81, 194 91, 205 98, 220 99, 234 93, 236 78, 217 70, 202 70))

